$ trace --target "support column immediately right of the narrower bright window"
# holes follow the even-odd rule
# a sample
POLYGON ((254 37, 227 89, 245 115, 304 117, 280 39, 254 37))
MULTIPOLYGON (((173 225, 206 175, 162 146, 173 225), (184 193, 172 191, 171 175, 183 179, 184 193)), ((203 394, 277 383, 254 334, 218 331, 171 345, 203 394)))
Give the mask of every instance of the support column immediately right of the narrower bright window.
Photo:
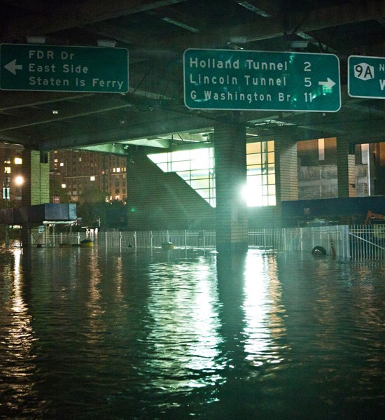
POLYGON ((289 135, 274 137, 274 151, 276 186, 274 216, 276 219, 284 219, 282 201, 298 200, 297 139, 289 135))

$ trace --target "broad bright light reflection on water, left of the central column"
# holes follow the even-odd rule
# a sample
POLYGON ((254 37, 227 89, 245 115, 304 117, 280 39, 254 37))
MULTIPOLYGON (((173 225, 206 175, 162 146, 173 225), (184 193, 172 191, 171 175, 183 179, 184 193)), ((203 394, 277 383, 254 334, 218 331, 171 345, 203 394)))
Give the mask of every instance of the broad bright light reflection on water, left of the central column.
POLYGON ((204 259, 198 258, 194 264, 151 265, 149 279, 151 365, 153 359, 158 360, 155 371, 163 372, 159 377, 153 372, 149 381, 167 390, 175 388, 177 379, 180 391, 211 384, 212 377, 202 376, 202 372, 219 368, 215 361, 220 341, 218 296, 212 287, 215 272, 210 272, 204 259))

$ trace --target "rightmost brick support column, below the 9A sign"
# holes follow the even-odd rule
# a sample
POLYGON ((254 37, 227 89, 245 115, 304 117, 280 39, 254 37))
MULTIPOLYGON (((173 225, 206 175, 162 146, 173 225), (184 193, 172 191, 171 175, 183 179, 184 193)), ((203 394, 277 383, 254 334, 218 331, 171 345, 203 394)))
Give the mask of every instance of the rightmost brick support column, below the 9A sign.
POLYGON ((356 156, 349 140, 337 138, 338 197, 356 197, 356 156))

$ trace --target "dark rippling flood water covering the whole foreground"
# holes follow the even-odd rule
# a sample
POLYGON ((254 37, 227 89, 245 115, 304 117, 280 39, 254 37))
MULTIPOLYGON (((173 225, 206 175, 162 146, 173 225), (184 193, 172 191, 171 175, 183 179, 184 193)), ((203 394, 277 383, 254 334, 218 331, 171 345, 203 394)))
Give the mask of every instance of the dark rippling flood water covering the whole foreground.
POLYGON ((385 262, 0 251, 1 419, 381 419, 385 262))

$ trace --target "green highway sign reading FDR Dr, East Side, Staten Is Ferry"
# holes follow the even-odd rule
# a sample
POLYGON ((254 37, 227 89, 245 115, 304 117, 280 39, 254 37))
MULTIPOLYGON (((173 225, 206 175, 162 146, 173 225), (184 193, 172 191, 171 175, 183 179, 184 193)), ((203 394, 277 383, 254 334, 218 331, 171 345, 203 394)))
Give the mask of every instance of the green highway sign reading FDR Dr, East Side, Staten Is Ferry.
POLYGON ((1 44, 0 89, 128 92, 128 50, 1 44))

